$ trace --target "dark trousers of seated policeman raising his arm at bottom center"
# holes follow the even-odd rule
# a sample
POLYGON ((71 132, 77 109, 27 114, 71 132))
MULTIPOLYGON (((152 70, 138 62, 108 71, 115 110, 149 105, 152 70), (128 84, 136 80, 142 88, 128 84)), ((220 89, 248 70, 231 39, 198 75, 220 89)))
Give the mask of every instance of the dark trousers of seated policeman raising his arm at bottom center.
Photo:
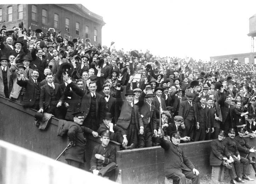
POLYGON ((173 172, 169 178, 179 180, 180 184, 186 184, 186 178, 191 179, 193 184, 200 184, 199 176, 195 175, 193 171, 182 170, 182 172, 173 172))

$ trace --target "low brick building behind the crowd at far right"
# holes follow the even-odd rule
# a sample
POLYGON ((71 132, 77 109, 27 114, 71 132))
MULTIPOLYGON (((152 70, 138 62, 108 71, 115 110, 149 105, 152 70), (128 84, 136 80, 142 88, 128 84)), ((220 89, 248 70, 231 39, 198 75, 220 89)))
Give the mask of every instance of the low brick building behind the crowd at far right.
POLYGON ((254 53, 243 53, 243 54, 231 54, 231 55, 223 55, 223 56, 211 56, 210 60, 212 62, 226 62, 234 61, 234 63, 241 63, 247 65, 256 65, 256 52, 254 53))

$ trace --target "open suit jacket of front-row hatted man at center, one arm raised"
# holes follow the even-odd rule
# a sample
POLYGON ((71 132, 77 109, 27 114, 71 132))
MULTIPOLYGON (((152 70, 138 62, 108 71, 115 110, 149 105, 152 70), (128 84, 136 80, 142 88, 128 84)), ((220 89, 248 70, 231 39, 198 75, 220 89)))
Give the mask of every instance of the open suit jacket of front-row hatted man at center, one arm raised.
POLYGON ((153 132, 154 129, 157 129, 156 110, 153 104, 151 104, 151 110, 150 110, 150 105, 144 101, 145 96, 146 94, 143 91, 139 97, 139 102, 138 102, 138 105, 140 107, 140 115, 142 117, 142 122, 143 122, 140 124, 140 127, 142 126, 145 129, 148 123, 150 123, 150 127, 153 132))

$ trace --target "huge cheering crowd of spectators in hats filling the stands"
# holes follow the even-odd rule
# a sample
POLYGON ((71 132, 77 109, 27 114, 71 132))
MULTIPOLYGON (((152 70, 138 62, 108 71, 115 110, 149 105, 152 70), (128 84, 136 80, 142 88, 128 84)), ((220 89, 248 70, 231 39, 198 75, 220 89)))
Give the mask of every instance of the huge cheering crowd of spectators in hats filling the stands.
POLYGON ((0 62, 0 96, 68 121, 83 111, 94 135, 110 129, 125 148, 158 145, 159 127, 184 142, 230 128, 255 136, 254 65, 125 52, 22 23, 2 26, 0 62))

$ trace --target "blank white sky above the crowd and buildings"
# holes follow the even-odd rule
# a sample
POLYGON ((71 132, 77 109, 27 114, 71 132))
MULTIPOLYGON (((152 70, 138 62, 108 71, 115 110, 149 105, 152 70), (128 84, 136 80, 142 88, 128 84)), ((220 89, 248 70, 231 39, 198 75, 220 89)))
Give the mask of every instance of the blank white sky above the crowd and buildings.
MULTIPOLYGON (((52 3, 50 0, 44 2, 52 3)), ((56 2, 70 3, 66 0, 56 2)), ((210 56, 251 52, 251 38, 247 34, 249 18, 256 14, 255 0, 72 2, 83 4, 103 17, 106 24, 102 27, 102 45, 109 46, 114 41, 118 50, 145 52, 148 49, 157 56, 208 61, 210 56)))

